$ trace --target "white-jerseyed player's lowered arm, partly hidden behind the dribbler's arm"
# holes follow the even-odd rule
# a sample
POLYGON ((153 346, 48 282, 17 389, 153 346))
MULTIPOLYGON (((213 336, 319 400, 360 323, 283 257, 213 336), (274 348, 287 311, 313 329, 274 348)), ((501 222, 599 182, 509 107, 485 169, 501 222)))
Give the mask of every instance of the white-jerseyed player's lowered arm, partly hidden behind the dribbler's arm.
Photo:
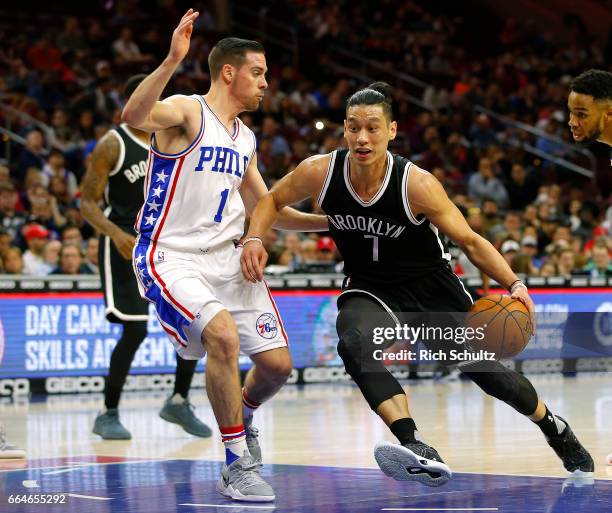
MULTIPOLYGON (((316 172, 311 170, 311 174, 316 174, 316 172)), ((313 185, 316 185, 316 177, 313 176, 312 178, 314 178, 313 185)), ((242 196, 242 201, 249 215, 253 213, 257 202, 263 198, 267 192, 268 188, 257 169, 257 155, 254 155, 247 168, 242 185, 240 186, 240 195, 242 196)), ((327 216, 308 214, 291 207, 283 207, 280 209, 278 218, 275 220, 272 227, 280 230, 295 230, 299 232, 326 232, 329 230, 327 216)))

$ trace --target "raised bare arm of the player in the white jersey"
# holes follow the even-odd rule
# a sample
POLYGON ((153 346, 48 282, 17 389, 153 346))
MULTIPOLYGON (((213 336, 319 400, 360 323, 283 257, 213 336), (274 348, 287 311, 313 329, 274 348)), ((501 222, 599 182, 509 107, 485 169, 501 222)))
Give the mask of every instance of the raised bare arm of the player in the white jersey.
POLYGON ((173 96, 160 102, 159 98, 189 51, 193 23, 198 15, 198 12, 189 9, 181 18, 172 34, 168 56, 132 93, 121 113, 123 122, 147 132, 157 132, 184 124, 190 100, 173 96))

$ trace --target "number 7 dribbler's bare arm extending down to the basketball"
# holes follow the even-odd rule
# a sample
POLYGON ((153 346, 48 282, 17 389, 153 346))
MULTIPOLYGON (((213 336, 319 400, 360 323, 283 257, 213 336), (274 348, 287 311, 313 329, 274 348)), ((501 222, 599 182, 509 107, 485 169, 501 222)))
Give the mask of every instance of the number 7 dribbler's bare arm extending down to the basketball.
POLYGON ((440 182, 430 173, 416 168, 410 173, 408 201, 413 214, 424 214, 442 233, 451 238, 486 275, 508 289, 529 310, 535 330, 535 309, 527 287, 510 269, 504 257, 487 239, 478 235, 449 199, 440 182))

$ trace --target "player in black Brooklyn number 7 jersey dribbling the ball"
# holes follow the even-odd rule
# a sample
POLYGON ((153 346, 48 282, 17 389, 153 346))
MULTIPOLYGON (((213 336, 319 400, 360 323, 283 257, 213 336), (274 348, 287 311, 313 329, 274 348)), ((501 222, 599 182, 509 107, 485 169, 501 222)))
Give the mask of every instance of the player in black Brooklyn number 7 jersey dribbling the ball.
MULTIPOLYGON (((376 460, 395 479, 439 486, 451 471, 436 450, 420 440, 404 390, 374 359, 374 349, 380 346, 373 345, 372 319, 380 315, 373 314, 388 315, 393 325, 401 312, 470 308, 472 299, 451 271, 438 230, 511 297, 522 301, 532 317, 534 306, 527 287, 499 252, 469 227, 437 179, 387 151, 397 130, 388 89, 386 84, 372 84, 348 100, 348 150, 304 160, 259 201, 241 264, 246 279, 261 280, 267 259, 261 238, 279 209, 308 197, 318 200, 347 276, 338 299, 338 352, 365 400, 400 442, 378 444, 376 460)), ((591 456, 567 422, 549 412, 524 376, 496 361, 470 363, 461 371, 535 422, 568 471, 593 471, 591 456)))

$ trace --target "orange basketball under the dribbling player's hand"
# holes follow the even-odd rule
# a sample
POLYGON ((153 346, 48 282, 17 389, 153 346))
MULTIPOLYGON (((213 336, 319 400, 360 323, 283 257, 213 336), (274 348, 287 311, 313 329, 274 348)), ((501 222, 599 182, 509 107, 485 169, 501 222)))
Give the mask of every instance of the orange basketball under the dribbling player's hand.
POLYGON ((466 316, 466 326, 484 332, 482 339, 470 342, 470 347, 475 351, 494 352, 497 360, 519 354, 533 335, 525 305, 501 294, 476 301, 466 316))

